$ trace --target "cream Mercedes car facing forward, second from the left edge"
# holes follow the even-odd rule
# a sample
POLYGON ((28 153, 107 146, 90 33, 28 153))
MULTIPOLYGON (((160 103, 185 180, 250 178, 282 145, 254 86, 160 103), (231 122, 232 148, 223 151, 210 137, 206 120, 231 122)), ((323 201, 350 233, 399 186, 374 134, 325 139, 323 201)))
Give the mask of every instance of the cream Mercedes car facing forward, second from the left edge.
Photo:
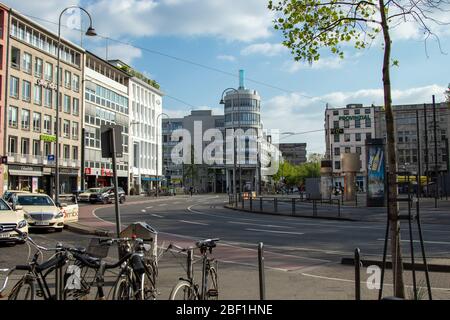
POLYGON ((23 212, 30 229, 54 229, 60 232, 64 228, 62 208, 57 207, 46 194, 18 194, 15 206, 16 210, 23 212))

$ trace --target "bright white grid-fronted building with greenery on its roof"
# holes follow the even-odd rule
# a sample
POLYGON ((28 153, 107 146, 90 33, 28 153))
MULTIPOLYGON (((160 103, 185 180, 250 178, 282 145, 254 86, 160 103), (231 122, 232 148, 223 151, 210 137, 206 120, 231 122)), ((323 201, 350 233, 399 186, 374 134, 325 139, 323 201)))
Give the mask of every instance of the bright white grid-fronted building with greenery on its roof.
POLYGON ((110 63, 131 75, 130 94, 130 190, 140 194, 156 188, 163 166, 161 159, 162 96, 159 85, 120 60, 110 63), (158 168, 157 168, 158 166, 158 168))

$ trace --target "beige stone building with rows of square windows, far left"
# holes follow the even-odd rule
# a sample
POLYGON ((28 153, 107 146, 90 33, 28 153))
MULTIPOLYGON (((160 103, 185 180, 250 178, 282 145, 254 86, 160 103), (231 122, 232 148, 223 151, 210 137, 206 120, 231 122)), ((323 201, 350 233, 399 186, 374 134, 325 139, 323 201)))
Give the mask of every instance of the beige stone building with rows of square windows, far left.
POLYGON ((57 70, 57 35, 9 11, 4 98, 5 153, 10 189, 53 194, 56 134, 59 134, 61 193, 80 187, 81 99, 84 50, 61 39, 57 70), (56 128, 59 77, 60 127, 56 128))

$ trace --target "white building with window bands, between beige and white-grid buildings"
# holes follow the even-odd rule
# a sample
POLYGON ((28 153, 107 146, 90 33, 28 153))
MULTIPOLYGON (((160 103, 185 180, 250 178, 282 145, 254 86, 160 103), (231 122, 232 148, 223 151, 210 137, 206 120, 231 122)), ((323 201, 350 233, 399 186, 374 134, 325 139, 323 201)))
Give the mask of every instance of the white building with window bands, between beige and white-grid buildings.
POLYGON ((101 153, 101 125, 120 125, 123 157, 117 159, 118 185, 128 192, 129 81, 128 73, 86 52, 83 159, 87 187, 112 185, 111 159, 102 158, 101 153))

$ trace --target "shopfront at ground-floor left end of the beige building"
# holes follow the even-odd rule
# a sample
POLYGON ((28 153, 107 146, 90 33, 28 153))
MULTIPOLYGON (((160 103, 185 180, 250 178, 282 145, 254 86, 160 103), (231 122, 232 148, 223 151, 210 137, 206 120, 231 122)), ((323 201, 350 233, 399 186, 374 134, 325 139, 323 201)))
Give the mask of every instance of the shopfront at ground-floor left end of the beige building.
POLYGON ((39 192, 43 189, 42 167, 8 166, 8 189, 39 192))

